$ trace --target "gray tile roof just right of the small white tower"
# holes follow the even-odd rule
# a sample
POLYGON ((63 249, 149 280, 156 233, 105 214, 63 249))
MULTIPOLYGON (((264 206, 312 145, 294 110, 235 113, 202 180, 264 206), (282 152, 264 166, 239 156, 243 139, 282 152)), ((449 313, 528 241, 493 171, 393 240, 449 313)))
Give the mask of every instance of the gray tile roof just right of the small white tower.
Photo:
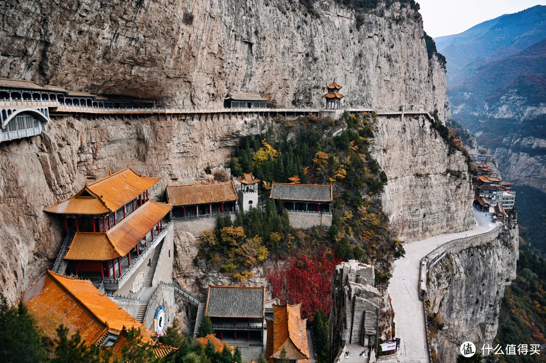
POLYGON ((286 201, 331 202, 332 186, 273 183, 269 197, 286 201))

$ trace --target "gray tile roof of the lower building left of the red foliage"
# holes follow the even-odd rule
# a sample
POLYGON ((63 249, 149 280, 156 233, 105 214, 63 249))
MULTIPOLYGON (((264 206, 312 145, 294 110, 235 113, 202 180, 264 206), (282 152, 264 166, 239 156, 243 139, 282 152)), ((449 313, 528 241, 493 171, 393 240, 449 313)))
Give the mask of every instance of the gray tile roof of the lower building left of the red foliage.
POLYGON ((211 317, 262 318, 265 288, 209 286, 205 313, 211 317))

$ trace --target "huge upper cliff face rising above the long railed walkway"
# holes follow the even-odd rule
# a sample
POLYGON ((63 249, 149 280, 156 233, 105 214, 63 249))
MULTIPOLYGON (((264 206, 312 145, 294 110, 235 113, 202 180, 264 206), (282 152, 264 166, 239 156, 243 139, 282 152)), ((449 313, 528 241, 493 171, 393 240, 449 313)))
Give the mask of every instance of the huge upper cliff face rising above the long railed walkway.
POLYGON ((209 107, 228 91, 322 107, 336 77, 346 106, 442 116, 445 72, 429 64, 409 4, 380 4, 358 30, 353 11, 313 3, 316 16, 290 0, 9 0, 0 9, 0 74, 209 107))

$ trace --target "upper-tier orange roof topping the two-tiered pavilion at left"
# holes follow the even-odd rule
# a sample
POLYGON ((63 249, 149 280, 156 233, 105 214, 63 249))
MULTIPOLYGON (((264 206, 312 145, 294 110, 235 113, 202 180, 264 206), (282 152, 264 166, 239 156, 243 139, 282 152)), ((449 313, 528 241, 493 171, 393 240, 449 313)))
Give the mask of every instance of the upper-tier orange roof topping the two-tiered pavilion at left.
POLYGON ((100 215, 116 211, 150 189, 159 178, 135 173, 130 167, 93 181, 64 201, 44 208, 59 214, 100 215))

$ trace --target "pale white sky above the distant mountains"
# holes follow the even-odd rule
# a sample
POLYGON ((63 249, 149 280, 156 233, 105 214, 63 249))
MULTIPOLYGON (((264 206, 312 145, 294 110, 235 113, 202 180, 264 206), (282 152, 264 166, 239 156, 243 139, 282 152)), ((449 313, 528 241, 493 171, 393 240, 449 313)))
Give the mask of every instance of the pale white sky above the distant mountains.
POLYGON ((425 32, 432 38, 458 34, 502 14, 517 13, 546 0, 417 0, 425 32))

